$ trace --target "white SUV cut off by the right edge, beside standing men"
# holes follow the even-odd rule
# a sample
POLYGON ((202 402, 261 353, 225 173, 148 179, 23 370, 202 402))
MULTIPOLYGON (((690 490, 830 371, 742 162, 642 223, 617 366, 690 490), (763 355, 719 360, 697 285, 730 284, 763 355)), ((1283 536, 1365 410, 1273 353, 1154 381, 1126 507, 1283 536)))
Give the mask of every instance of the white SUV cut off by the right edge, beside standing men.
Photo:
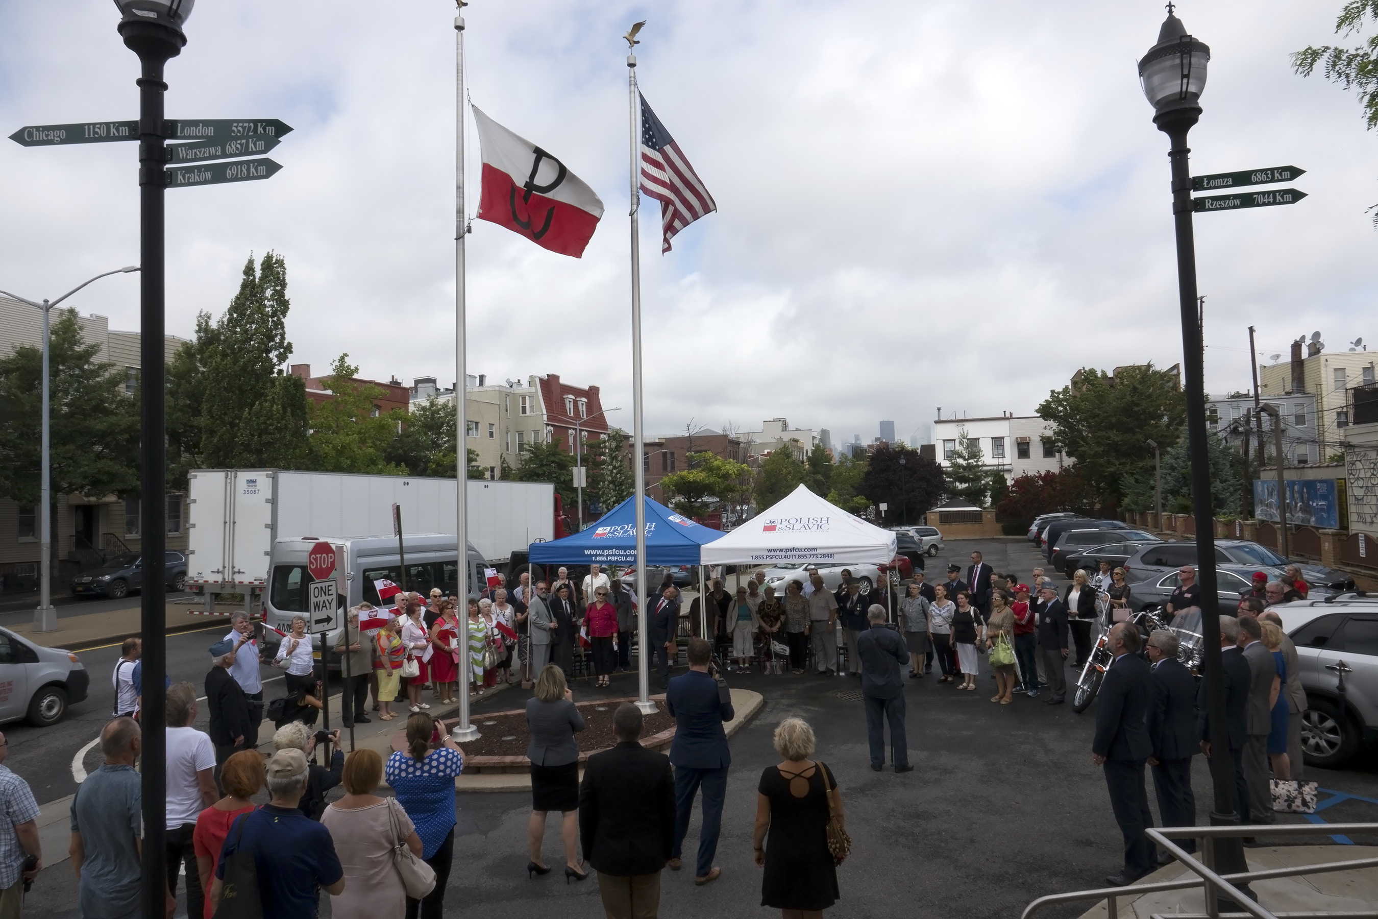
POLYGON ((1306 765, 1338 769, 1378 739, 1378 598, 1346 592, 1273 609, 1297 643, 1306 765))

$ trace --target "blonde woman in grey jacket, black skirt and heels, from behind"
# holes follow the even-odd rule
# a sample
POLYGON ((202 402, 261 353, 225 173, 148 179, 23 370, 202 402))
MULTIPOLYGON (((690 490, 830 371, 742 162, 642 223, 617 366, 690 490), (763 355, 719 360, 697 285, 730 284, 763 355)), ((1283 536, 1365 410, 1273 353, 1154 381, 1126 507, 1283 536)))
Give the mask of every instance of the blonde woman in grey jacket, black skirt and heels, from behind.
POLYGON ((526 872, 535 878, 550 871, 540 860, 540 843, 546 836, 546 814, 558 810, 564 817, 559 835, 565 843, 565 878, 583 880, 588 874, 579 858, 579 744, 575 733, 584 729, 584 716, 565 686, 565 671, 555 664, 546 664, 536 677, 536 694, 526 700, 526 727, 531 730, 526 747, 531 861, 526 872))

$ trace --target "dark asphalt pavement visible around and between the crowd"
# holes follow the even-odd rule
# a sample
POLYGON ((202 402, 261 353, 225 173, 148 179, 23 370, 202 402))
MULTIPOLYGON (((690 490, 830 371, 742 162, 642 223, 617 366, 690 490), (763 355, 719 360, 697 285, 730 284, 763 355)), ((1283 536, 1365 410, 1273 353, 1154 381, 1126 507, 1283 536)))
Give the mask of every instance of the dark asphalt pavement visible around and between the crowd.
MULTIPOLYGON (((1038 561, 1022 540, 951 541, 929 559, 940 577, 948 561, 967 562, 981 548, 996 570, 1027 579, 1038 561)), ((168 638, 174 679, 198 686, 209 668, 214 631, 168 638)), ((10 726, 7 765, 28 778, 40 802, 72 792, 72 756, 95 737, 110 708, 110 668, 117 649, 83 654, 92 670, 91 699, 74 705, 68 721, 47 729, 10 726), (18 743, 15 743, 18 740, 18 743)), ((983 657, 983 667, 985 659, 983 657)), ((1071 677, 1071 670, 1068 670, 1071 677)), ((266 670, 265 675, 276 675, 266 670)), ((992 704, 994 682, 983 672, 980 692, 959 693, 932 677, 907 686, 908 747, 912 773, 868 766, 865 721, 853 678, 732 675, 733 686, 765 696, 761 712, 732 741, 732 773, 718 846, 722 878, 693 885, 697 812, 685 845, 686 869, 666 871, 661 916, 772 915, 759 907, 761 875, 751 860, 755 788, 763 769, 779 762, 770 743, 788 716, 809 721, 819 737, 817 758, 838 776, 853 839, 852 857, 838 869, 836 916, 1016 916, 1046 893, 1098 887, 1120 867, 1122 842, 1111 814, 1101 770, 1090 741, 1096 707, 1082 715, 1067 705, 1016 697, 992 704)), ((273 683, 270 683, 270 688, 273 683)), ((637 692, 635 674, 619 674, 610 689, 576 681, 576 699, 615 699, 637 692)), ((269 696, 274 694, 270 689, 269 696)), ((520 708, 518 688, 475 705, 475 714, 520 708)), ((203 715, 204 718, 204 715, 203 715)), ((98 758, 87 756, 87 767, 98 758)), ((1378 752, 1367 751, 1350 769, 1309 769, 1322 788, 1356 795, 1324 812, 1326 820, 1378 821, 1378 752)), ((1210 776, 1195 759, 1193 787, 1200 823, 1211 803, 1210 776)), ((1152 798, 1152 787, 1149 785, 1152 798)), ((524 918, 582 919, 602 916, 597 883, 565 885, 558 872, 528 880, 525 794, 459 795, 455 863, 446 915, 506 913, 524 918)), ((1153 805, 1156 814, 1156 805, 1153 805)), ((1301 817, 1279 814, 1288 821, 1301 817)), ((544 856, 562 861, 558 821, 551 820, 544 856)), ((1328 839, 1327 839, 1328 842, 1328 839)), ((1359 843, 1378 842, 1356 839, 1359 843)), ((322 915, 329 915, 322 897, 322 915)), ((1076 916, 1086 907, 1040 915, 1076 916)), ((29 894, 28 909, 52 919, 74 918, 76 887, 69 864, 44 871, 29 894)), ((179 911, 179 915, 185 915, 179 911)))

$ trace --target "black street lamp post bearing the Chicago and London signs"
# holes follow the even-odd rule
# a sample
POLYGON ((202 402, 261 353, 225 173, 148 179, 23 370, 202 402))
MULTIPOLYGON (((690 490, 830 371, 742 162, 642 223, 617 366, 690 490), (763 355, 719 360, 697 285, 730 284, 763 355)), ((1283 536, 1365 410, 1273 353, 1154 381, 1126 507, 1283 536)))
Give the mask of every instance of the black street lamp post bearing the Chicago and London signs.
POLYGON ((143 557, 141 631, 143 635, 143 916, 163 919, 167 891, 165 831, 167 739, 163 730, 167 674, 164 486, 164 260, 163 193, 167 187, 163 66, 186 44, 182 23, 196 0, 114 0, 120 36, 139 55, 139 550, 143 557))

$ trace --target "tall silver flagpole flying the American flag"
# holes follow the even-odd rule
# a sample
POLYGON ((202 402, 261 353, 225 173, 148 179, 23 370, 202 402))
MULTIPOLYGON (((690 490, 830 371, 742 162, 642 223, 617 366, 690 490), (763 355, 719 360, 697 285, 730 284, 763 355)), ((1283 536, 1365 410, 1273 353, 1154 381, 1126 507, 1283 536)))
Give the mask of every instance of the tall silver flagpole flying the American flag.
POLYGON ((627 36, 627 112, 631 117, 631 462, 637 470, 637 631, 641 635, 641 652, 637 654, 641 694, 637 708, 649 715, 656 711, 656 703, 650 701, 650 628, 646 619, 646 468, 642 457, 646 437, 641 424, 641 242, 637 233, 641 209, 641 193, 637 187, 641 106, 637 105, 637 55, 633 54, 635 34, 633 29, 627 36))

